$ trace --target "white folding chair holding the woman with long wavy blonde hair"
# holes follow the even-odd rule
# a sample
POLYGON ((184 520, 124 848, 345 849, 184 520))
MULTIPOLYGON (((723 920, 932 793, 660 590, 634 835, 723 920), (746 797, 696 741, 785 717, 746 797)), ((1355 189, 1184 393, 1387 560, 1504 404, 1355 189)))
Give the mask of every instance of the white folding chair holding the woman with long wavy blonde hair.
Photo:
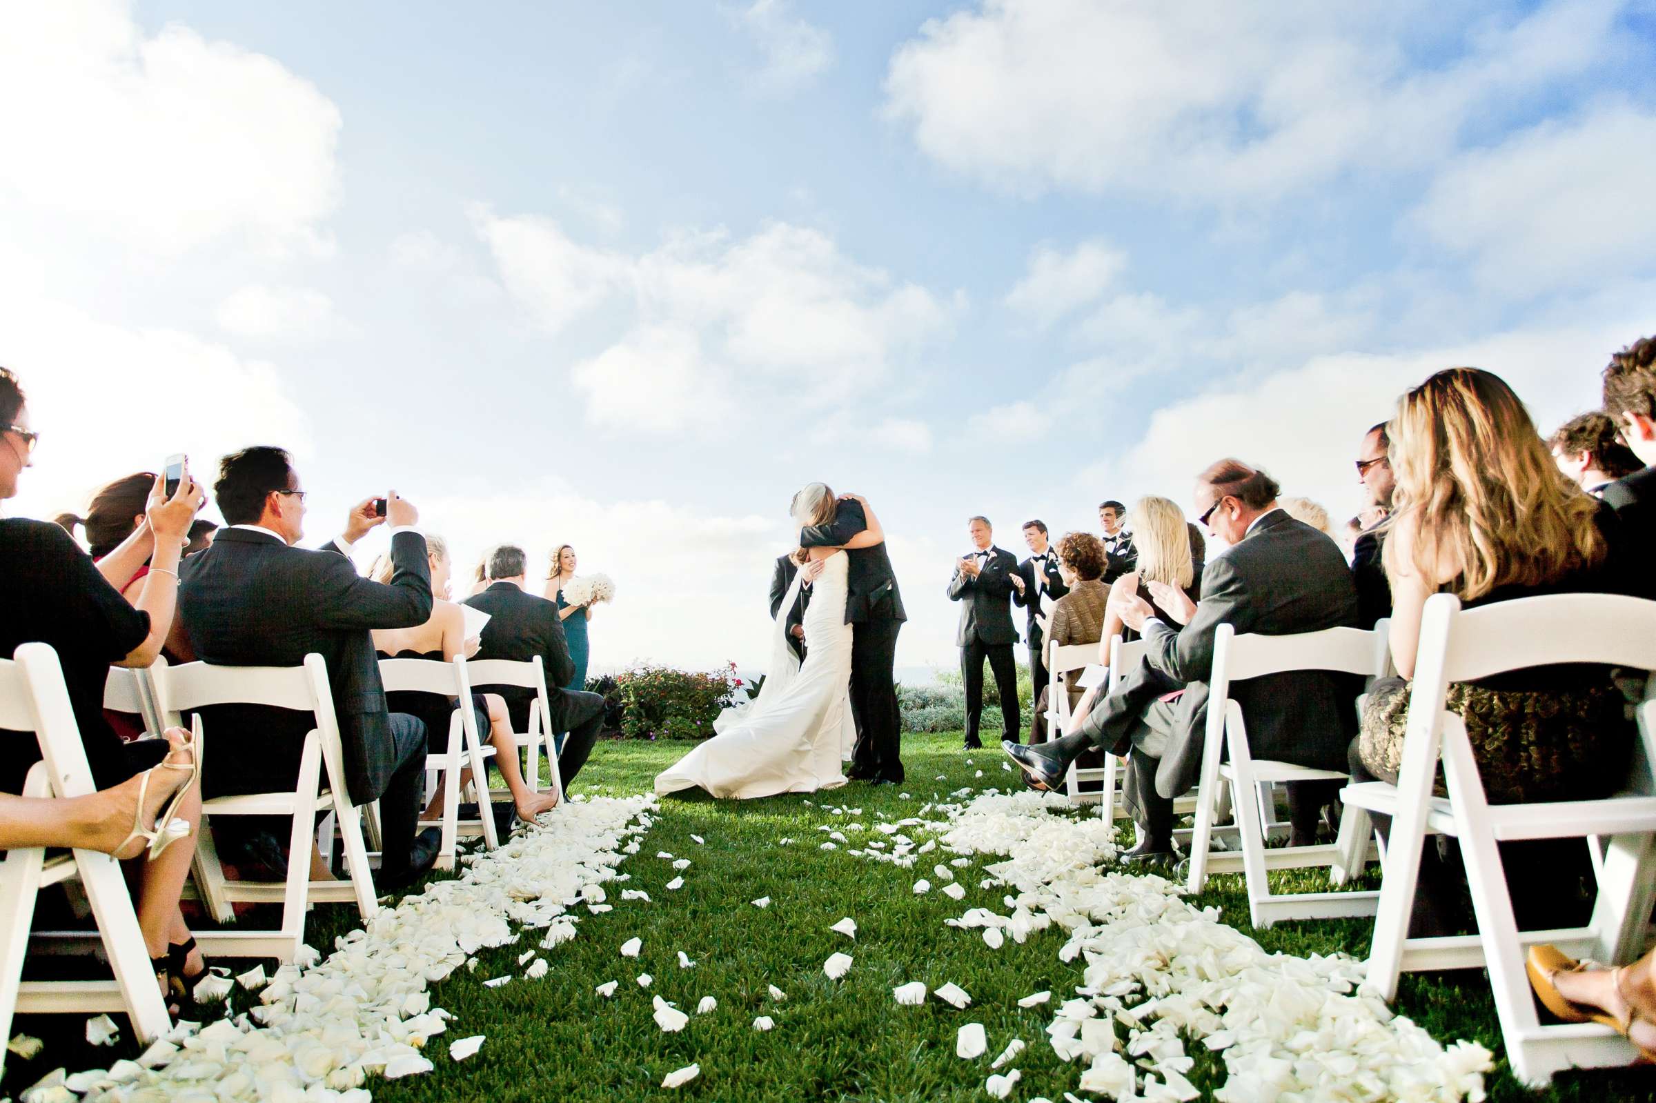
POLYGON ((1524 971, 1525 947, 1552 942, 1575 957, 1633 961, 1656 903, 1656 677, 1638 707, 1626 787, 1605 800, 1490 805, 1466 724, 1446 707, 1451 682, 1555 662, 1656 671, 1656 601, 1548 595, 1462 611, 1454 595, 1434 595, 1421 619, 1398 785, 1366 782, 1343 793, 1348 805, 1391 816, 1368 985, 1391 1000, 1399 972, 1487 966, 1507 1060, 1532 1086, 1567 1068, 1626 1065, 1638 1050, 1595 1024, 1543 1027, 1524 971), (1432 797, 1439 752, 1447 798, 1432 797), (1408 937, 1421 846, 1432 830, 1461 840, 1477 936, 1408 937), (1588 926, 1519 931, 1499 843, 1540 838, 1608 838, 1588 926))

